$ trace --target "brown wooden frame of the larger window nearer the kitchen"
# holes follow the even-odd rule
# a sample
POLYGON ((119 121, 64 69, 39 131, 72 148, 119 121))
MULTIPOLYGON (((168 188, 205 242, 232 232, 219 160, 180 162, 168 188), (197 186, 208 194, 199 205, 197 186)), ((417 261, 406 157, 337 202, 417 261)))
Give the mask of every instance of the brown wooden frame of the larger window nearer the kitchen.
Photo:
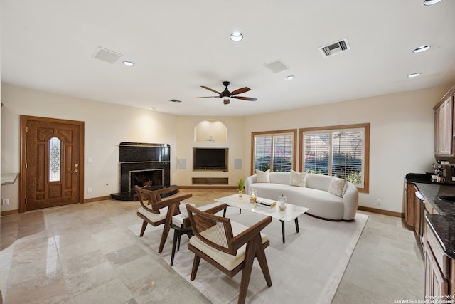
MULTIPOLYGON (((328 127, 307 127, 299 129, 299 172, 304 168, 304 134, 305 132, 340 132, 346 129, 363 129, 365 147, 363 147, 363 187, 358 187, 358 192, 369 193, 370 191, 370 123, 355 124, 355 125, 334 125, 328 127)), ((332 149, 332 147, 330 147, 332 149)))

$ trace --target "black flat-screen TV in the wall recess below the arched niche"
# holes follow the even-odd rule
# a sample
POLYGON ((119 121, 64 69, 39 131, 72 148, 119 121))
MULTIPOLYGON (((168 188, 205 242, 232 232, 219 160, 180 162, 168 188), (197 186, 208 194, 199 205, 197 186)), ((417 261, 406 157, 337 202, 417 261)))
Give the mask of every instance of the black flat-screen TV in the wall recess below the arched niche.
POLYGON ((228 148, 193 148, 193 169, 228 170, 228 148))

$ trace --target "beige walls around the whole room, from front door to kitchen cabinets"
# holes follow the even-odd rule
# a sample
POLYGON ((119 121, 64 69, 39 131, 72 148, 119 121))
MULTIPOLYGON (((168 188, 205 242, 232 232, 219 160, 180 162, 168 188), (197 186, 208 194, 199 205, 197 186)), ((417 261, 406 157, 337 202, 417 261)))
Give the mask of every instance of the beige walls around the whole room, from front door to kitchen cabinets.
MULTIPOLYGON (((191 177, 228 177, 230 185, 235 185, 237 179, 250 174, 251 132, 370 122, 370 193, 360 194, 359 204, 402 212, 403 177, 408 172, 429 171, 434 162, 432 108, 448 89, 249 117, 188 117, 4 84, 1 169, 18 172, 19 115, 85 121, 85 199, 118 192, 118 145, 122 141, 170 144, 172 184, 191 185, 191 177), (228 128, 227 142, 195 142, 194 128, 207 119, 223 122, 228 128), (229 147, 229 172, 193 172, 193 147, 229 147), (92 164, 87 164, 87 157, 92 157, 92 164), (186 159, 186 169, 178 169, 178 159, 186 159), (242 169, 234 169, 234 159, 242 160, 242 169), (92 194, 87 194, 87 187, 92 194), (382 200, 381 206, 376 205, 377 199, 382 200)), ((17 209, 17 203, 10 203, 10 208, 17 209)))

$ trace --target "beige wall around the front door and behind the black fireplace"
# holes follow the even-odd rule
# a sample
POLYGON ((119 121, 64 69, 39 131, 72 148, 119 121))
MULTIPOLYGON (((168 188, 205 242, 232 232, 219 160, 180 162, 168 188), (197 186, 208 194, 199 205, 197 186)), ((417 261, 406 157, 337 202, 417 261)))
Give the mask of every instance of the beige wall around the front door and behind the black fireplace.
MULTIPOLYGON (((84 197, 106 196, 119 192, 119 143, 158 142, 173 147, 176 153, 176 116, 121 105, 100 103, 38 90, 3 84, 2 172, 19 172, 20 116, 32 115, 85 122, 84 197), (92 158, 92 164, 87 158, 92 158), (92 193, 87 193, 87 188, 92 193)), ((175 171, 176 163, 171 163, 175 171)), ((173 182, 174 174, 171 174, 173 182)), ((9 198, 8 208, 18 209, 18 198, 9 198)), ((3 207, 3 206, 2 206, 3 207)), ((6 207, 6 206, 5 206, 6 207)))

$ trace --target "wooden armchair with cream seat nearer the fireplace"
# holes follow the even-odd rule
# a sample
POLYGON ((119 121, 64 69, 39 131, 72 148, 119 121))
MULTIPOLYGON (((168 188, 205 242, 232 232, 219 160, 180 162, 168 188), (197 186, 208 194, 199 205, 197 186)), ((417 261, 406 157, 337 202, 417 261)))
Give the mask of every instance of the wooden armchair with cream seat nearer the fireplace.
POLYGON ((134 188, 137 192, 137 195, 134 196, 134 200, 139 200, 141 203, 141 206, 137 209, 137 215, 144 220, 140 236, 144 235, 147 224, 151 224, 151 226, 164 224, 158 250, 158 252, 161 252, 163 251, 164 243, 166 243, 166 238, 168 237, 169 229, 171 228, 172 216, 180 214, 178 205, 184 199, 193 196, 193 194, 170 196, 168 199, 161 200, 160 194, 168 191, 168 189, 164 188, 151 191, 139 186, 135 186, 134 188))

